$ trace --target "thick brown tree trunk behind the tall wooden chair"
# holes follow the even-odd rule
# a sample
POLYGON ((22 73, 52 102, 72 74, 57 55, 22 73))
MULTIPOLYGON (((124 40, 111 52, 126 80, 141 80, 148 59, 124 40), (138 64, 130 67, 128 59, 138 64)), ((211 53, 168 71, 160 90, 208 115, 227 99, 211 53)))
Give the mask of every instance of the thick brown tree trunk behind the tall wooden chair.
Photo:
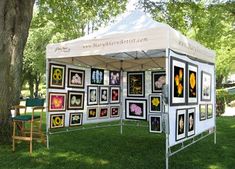
POLYGON ((10 108, 19 103, 23 50, 34 1, 0 1, 0 142, 11 140, 10 108))

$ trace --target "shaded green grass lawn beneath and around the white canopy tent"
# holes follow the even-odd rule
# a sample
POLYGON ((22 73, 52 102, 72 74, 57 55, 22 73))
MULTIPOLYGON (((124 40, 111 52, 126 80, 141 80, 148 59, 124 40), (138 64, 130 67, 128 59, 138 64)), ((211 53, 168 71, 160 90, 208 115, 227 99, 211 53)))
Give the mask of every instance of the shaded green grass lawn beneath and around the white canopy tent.
MULTIPOLYGON (((0 169, 164 169, 164 134, 147 128, 124 126, 50 135, 50 149, 39 143, 29 146, 0 145, 0 169)), ((235 168, 235 118, 217 119, 217 144, 213 135, 170 158, 170 169, 235 168)))

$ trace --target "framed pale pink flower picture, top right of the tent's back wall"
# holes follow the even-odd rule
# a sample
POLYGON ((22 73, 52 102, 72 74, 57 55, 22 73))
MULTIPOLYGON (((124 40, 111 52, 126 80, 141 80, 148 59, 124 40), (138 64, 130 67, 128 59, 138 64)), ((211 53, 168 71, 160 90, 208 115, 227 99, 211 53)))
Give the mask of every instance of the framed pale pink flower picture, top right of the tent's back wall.
POLYGON ((152 72, 152 93, 162 92, 162 86, 166 84, 166 72, 152 72))

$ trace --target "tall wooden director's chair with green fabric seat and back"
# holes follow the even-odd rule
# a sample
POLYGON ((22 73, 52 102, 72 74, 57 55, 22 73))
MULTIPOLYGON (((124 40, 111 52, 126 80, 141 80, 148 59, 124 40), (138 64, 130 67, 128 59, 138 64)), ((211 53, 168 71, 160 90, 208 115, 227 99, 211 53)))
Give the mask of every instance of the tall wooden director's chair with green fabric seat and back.
POLYGON ((45 143, 45 136, 42 132, 42 114, 44 110, 44 99, 27 99, 26 106, 13 106, 16 111, 24 110, 23 114, 12 118, 13 135, 12 149, 15 151, 16 140, 28 141, 29 152, 32 154, 33 139, 41 139, 45 143), (32 107, 31 114, 27 114, 27 108, 32 107))

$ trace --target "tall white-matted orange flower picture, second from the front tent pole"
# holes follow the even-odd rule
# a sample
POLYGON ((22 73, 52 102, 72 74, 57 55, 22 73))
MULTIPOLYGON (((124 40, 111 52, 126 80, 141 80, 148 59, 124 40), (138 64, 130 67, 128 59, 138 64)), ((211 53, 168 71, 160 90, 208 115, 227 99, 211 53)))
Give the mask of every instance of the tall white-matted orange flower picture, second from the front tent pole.
POLYGON ((198 67, 188 63, 188 104, 197 104, 198 103, 198 67))

